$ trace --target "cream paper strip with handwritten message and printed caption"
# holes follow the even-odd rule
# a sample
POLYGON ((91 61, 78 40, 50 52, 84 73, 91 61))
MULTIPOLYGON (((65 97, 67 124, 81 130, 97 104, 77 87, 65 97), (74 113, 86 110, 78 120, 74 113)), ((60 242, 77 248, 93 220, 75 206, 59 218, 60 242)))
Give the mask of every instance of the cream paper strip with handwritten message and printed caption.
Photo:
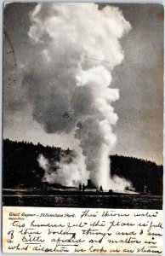
POLYGON ((4 253, 162 254, 162 211, 3 207, 4 253))

